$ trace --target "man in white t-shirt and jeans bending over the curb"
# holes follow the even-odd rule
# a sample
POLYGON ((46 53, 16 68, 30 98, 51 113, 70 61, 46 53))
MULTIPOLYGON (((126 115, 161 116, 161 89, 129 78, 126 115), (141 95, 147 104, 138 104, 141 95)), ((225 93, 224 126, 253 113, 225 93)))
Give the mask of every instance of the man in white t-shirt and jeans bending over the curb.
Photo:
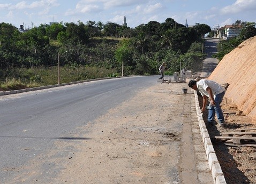
POLYGON ((217 115, 217 119, 219 121, 219 126, 224 126, 224 116, 222 113, 222 109, 220 104, 225 94, 225 89, 220 84, 210 81, 207 79, 201 79, 200 81, 193 81, 189 82, 189 87, 193 90, 199 90, 203 97, 203 105, 201 109, 201 113, 204 113, 207 98, 209 98, 210 103, 208 106, 208 118, 207 122, 209 125, 214 125, 214 117, 215 113, 217 115))

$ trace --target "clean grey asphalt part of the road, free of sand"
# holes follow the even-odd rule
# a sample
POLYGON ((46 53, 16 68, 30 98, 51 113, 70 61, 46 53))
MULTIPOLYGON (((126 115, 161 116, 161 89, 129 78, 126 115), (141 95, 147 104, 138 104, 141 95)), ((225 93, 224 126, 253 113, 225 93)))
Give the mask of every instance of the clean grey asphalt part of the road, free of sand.
MULTIPOLYGON (((74 135, 76 127, 154 85, 156 78, 106 79, 0 97, 0 183, 7 183, 29 160, 46 154, 56 140, 86 139, 71 132, 74 135)), ((44 167, 49 170, 53 165, 44 167)))

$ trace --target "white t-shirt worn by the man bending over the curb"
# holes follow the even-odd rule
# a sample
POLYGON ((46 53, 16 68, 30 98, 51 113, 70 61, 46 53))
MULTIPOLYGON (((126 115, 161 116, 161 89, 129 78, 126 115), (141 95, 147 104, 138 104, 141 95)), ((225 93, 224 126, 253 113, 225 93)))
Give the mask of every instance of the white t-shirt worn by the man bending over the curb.
POLYGON ((200 81, 198 81, 197 87, 199 92, 202 95, 206 95, 208 98, 210 98, 210 96, 209 93, 206 91, 207 87, 210 87, 210 89, 212 89, 214 98, 216 94, 220 94, 225 91, 224 87, 222 87, 220 84, 214 81, 209 81, 207 79, 201 79, 200 81))

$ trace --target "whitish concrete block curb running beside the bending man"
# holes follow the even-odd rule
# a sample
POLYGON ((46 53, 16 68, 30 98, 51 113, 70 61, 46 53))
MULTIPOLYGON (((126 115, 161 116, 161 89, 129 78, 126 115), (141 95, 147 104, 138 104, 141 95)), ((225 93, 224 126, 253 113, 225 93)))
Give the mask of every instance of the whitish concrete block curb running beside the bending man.
POLYGON ((214 183, 227 184, 227 182, 225 181, 223 172, 221 170, 221 165, 217 159, 215 150, 213 148, 212 141, 210 141, 209 133, 208 133, 208 130, 206 129, 204 119, 202 118, 202 115, 201 115, 201 109, 199 106, 197 91, 194 91, 194 97, 195 97, 195 108, 197 110, 200 132, 202 135, 202 141, 204 142, 204 145, 205 145, 206 156, 208 159, 209 168, 212 171, 214 183))

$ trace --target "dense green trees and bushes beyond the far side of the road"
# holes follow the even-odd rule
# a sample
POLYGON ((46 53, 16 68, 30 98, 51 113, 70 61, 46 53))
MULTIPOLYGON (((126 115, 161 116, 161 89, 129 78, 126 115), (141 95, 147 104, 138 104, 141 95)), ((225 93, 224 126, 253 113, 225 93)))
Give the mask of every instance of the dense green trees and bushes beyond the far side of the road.
POLYGON ((0 81, 9 77, 40 85, 57 83, 58 60, 61 83, 120 76, 122 64, 124 75, 159 74, 162 62, 167 63, 168 74, 179 71, 180 63, 182 68, 197 71, 204 58, 202 37, 209 32, 205 24, 187 28, 171 18, 135 28, 113 22, 59 22, 24 33, 3 22, 0 81))

